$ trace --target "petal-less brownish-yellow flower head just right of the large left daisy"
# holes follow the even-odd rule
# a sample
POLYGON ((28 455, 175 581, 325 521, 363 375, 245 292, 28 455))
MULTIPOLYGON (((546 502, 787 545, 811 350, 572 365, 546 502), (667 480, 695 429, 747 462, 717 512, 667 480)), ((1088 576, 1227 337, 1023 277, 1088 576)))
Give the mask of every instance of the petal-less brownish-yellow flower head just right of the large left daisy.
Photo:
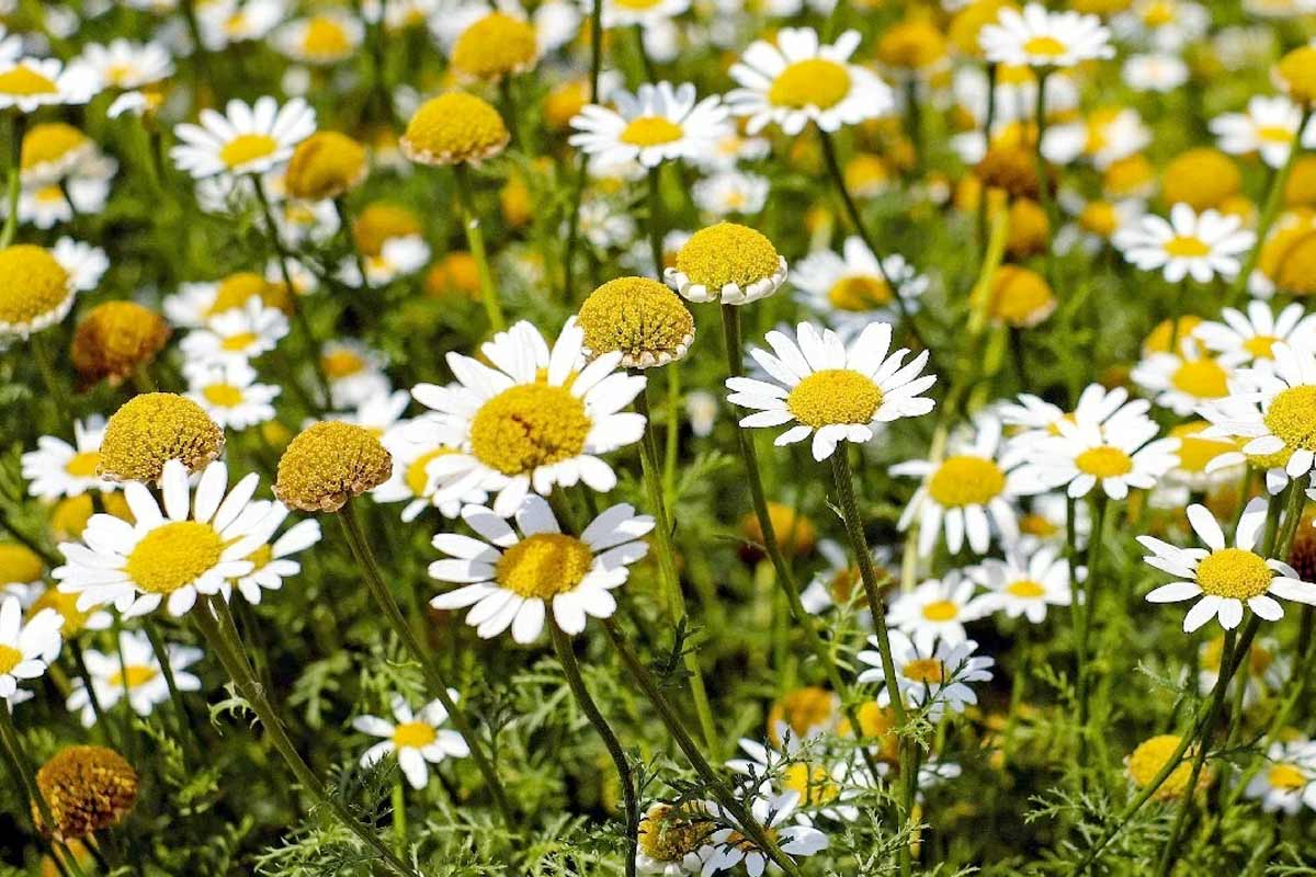
POLYGON ((393 471, 393 458, 363 426, 342 421, 312 423, 279 458, 274 494, 303 511, 337 511, 372 490, 393 471))

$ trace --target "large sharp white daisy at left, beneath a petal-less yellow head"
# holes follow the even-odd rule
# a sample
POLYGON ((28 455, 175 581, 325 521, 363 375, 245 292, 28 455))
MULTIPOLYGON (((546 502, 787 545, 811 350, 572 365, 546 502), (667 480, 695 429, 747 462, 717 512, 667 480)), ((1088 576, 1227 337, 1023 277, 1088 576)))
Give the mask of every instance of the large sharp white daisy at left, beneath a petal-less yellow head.
POLYGON ((228 476, 224 463, 211 463, 193 493, 187 467, 168 460, 161 476, 163 510, 143 484, 125 484, 134 523, 95 514, 83 542, 61 543, 68 563, 54 571, 59 589, 78 594, 80 610, 112 602, 133 618, 164 602, 171 615, 183 615, 199 594, 218 593, 225 581, 251 572, 245 557, 265 542, 278 504, 251 501, 261 480, 255 472, 232 490, 228 476))

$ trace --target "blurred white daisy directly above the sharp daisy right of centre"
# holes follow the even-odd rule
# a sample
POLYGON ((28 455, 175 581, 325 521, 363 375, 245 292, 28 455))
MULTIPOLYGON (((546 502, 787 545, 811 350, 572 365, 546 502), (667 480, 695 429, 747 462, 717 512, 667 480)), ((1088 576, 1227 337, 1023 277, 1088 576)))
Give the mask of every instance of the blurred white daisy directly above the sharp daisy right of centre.
POLYGON ((858 235, 846 238, 841 252, 819 250, 807 255, 796 263, 791 283, 804 293, 804 304, 834 321, 842 333, 858 331, 873 321, 895 320, 896 296, 904 310, 913 313, 928 291, 928 277, 904 256, 891 254, 878 264, 858 235))

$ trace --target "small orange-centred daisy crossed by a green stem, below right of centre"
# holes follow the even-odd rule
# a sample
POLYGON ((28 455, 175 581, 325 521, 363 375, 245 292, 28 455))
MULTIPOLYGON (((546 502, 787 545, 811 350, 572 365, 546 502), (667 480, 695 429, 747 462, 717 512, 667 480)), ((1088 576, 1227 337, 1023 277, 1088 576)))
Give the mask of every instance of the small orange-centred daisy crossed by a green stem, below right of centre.
MULTIPOLYGON (((859 673, 861 682, 879 682, 880 706, 891 705, 891 692, 886 689, 886 671, 878 638, 870 636, 871 650, 858 653, 858 659, 869 665, 859 673)), ((938 639, 936 644, 924 643, 920 647, 908 634, 891 631, 891 660, 895 664, 896 688, 901 702, 911 709, 926 710, 929 722, 940 722, 949 709, 963 713, 966 706, 978 702, 978 696, 969 682, 990 682, 991 668, 996 664, 991 657, 974 655, 978 643, 966 639, 951 643, 938 639)))

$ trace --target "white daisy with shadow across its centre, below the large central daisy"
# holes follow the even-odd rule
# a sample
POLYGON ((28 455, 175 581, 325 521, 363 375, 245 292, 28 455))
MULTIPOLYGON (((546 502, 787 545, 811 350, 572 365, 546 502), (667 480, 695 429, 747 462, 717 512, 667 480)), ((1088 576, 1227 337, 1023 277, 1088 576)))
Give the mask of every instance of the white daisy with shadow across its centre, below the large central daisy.
POLYGON ((653 518, 621 504, 601 511, 579 538, 569 536, 549 504, 534 494, 517 510, 516 530, 478 505, 462 509, 462 519, 483 540, 440 533, 433 544, 449 559, 432 563, 429 575, 468 584, 429 605, 471 606, 466 623, 482 639, 511 627, 512 639, 522 644, 540 636, 550 607, 551 623, 571 636, 584 630, 587 617, 609 618, 617 610, 611 592, 625 584, 628 567, 647 554, 642 536, 654 527, 653 518))

